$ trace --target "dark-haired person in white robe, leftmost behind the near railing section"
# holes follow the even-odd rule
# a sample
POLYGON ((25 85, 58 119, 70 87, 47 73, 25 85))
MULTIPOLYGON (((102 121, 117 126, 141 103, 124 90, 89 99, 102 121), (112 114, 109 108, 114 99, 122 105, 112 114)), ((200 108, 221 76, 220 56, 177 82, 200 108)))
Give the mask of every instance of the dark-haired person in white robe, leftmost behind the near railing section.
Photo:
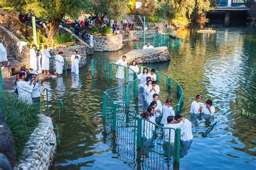
POLYGON ((144 112, 142 115, 142 137, 149 140, 153 138, 154 130, 156 129, 154 124, 150 122, 150 113, 144 112))

